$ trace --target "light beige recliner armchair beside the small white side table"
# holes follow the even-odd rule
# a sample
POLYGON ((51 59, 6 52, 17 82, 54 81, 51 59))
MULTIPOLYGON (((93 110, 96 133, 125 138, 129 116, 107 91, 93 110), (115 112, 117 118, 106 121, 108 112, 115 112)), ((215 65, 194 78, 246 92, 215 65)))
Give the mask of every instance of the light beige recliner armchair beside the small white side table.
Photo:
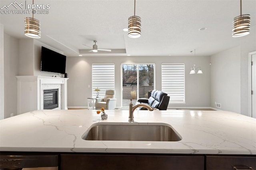
POLYGON ((114 89, 106 89, 104 98, 96 98, 96 109, 104 107, 106 110, 114 110, 116 108, 115 94, 116 91, 114 89))

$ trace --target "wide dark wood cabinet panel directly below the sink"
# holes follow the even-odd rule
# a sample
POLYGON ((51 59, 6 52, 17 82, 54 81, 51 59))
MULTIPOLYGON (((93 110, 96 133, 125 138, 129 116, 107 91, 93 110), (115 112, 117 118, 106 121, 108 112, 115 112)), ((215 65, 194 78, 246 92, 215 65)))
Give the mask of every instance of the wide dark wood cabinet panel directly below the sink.
POLYGON ((61 170, 204 170, 204 156, 61 154, 61 170))

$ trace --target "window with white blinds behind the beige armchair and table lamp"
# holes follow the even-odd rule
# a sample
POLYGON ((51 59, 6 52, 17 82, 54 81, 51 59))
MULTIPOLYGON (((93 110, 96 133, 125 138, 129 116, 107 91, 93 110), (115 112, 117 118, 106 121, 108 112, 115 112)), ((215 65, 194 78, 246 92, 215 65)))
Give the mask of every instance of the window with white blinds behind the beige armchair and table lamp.
POLYGON ((99 97, 104 97, 106 89, 115 89, 115 65, 112 63, 92 64, 92 97, 96 97, 96 88, 99 88, 99 97))

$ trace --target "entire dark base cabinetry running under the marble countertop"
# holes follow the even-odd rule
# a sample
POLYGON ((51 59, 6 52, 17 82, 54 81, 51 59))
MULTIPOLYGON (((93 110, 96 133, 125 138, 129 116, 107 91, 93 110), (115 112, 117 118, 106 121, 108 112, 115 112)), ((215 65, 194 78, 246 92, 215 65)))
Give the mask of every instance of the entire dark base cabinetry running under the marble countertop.
POLYGON ((70 152, 0 152, 0 169, 6 160, 4 155, 12 155, 13 160, 15 155, 35 154, 54 155, 58 170, 256 170, 256 155, 70 152))

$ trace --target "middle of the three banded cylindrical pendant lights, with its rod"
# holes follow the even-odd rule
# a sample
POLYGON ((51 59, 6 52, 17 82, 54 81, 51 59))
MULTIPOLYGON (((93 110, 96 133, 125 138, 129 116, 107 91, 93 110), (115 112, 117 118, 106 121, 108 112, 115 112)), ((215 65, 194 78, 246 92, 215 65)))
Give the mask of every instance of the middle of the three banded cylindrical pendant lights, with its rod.
POLYGON ((128 36, 130 38, 139 38, 141 35, 141 18, 135 15, 135 2, 134 0, 134 16, 128 18, 128 36))

